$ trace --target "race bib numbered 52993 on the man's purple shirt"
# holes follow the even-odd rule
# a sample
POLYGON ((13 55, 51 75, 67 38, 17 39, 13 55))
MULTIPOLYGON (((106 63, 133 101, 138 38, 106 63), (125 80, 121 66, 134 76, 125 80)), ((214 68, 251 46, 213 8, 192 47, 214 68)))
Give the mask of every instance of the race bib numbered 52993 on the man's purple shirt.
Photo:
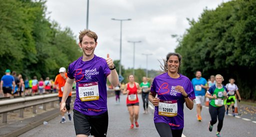
POLYGON ((99 99, 98 82, 78 84, 78 93, 81 101, 93 101, 99 99))

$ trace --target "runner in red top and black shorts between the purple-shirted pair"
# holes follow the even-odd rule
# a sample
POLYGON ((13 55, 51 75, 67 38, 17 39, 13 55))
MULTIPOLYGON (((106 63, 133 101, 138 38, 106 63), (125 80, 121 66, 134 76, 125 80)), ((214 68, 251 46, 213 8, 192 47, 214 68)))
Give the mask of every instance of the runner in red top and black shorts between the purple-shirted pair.
POLYGON ((130 114, 130 129, 133 129, 134 125, 133 122, 135 122, 136 127, 138 128, 138 112, 139 112, 139 106, 138 106, 138 96, 137 93, 140 93, 140 87, 139 84, 134 82, 134 76, 129 75, 129 82, 125 84, 125 87, 123 89, 123 94, 128 94, 126 98, 126 106, 128 108, 129 114, 130 114))

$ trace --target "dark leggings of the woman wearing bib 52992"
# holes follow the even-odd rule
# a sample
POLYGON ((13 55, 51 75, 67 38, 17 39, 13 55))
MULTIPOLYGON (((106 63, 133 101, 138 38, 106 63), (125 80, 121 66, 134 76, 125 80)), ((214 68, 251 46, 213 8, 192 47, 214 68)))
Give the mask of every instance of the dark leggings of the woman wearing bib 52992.
POLYGON ((154 123, 155 129, 160 137, 181 137, 183 129, 171 130, 166 123, 154 123))

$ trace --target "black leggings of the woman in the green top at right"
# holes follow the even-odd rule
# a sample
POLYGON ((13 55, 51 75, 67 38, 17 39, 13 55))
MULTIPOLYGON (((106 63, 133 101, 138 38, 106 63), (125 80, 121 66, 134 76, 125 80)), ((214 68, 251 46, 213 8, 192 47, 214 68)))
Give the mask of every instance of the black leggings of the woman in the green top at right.
POLYGON ((210 113, 210 125, 214 125, 217 122, 217 117, 218 117, 218 126, 217 126, 217 132, 221 131, 221 128, 223 126, 223 119, 225 115, 225 107, 213 107, 209 105, 209 113, 210 113))

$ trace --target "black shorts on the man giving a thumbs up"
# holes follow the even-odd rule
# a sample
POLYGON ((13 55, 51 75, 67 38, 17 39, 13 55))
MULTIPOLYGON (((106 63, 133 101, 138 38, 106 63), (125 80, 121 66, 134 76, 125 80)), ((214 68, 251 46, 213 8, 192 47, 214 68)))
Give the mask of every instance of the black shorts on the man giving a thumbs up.
POLYGON ((106 137, 108 127, 107 111, 100 115, 89 116, 73 110, 73 120, 75 135, 106 137))

